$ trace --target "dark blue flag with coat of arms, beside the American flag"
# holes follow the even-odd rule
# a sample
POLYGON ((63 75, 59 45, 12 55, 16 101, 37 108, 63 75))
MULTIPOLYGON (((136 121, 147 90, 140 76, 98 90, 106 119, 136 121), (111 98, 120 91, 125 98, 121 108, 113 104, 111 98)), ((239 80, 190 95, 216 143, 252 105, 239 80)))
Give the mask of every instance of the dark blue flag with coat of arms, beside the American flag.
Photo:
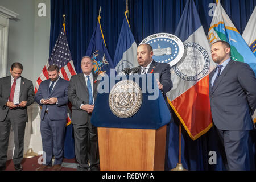
POLYGON ((110 69, 114 69, 114 65, 108 49, 106 48, 100 18, 101 16, 98 16, 96 27, 86 51, 86 56, 90 56, 93 61, 94 73, 97 73, 97 75, 100 73, 110 75, 110 69))

